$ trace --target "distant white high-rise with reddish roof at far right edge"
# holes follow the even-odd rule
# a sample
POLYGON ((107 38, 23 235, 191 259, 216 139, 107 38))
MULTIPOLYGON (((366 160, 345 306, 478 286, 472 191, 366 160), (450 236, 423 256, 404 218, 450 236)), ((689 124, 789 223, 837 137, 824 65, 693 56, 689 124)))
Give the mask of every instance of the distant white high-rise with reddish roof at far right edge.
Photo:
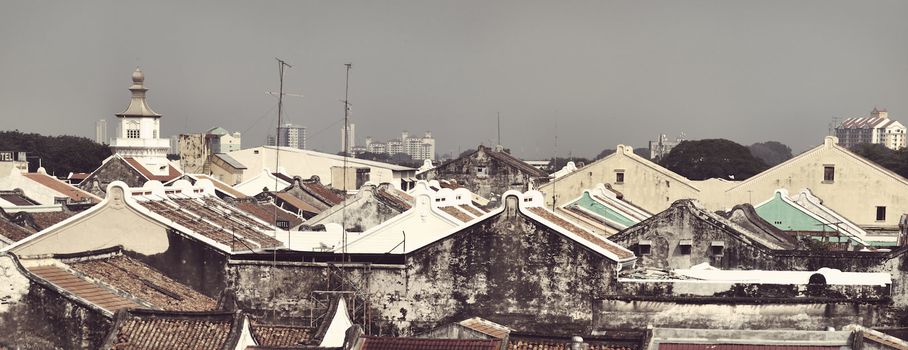
POLYGON ((889 112, 877 108, 870 112, 869 117, 848 118, 835 128, 836 137, 845 148, 872 143, 902 149, 906 145, 905 132, 902 123, 889 119, 889 112))

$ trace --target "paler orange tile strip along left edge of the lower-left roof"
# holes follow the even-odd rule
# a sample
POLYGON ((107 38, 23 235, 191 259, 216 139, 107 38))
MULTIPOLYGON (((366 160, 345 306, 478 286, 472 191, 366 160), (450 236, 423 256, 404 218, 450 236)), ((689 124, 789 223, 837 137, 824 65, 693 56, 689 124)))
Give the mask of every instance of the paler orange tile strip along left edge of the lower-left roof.
POLYGON ((142 305, 126 299, 110 289, 91 283, 59 266, 37 266, 28 270, 58 288, 110 312, 122 308, 142 307, 142 305))

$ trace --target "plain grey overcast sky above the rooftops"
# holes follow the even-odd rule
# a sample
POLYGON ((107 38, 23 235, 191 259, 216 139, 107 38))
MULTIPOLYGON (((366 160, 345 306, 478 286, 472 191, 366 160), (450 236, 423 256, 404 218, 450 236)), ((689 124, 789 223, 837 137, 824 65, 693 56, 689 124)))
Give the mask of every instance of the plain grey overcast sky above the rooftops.
MULTIPOLYGON (((822 142, 833 117, 908 122, 908 1, 3 1, 0 129, 94 138, 140 65, 162 134, 272 131, 337 152, 343 63, 358 142, 594 156, 659 133, 822 142), (262 117, 264 115, 264 117, 262 117)), ((111 124, 111 130, 114 125, 111 124)))

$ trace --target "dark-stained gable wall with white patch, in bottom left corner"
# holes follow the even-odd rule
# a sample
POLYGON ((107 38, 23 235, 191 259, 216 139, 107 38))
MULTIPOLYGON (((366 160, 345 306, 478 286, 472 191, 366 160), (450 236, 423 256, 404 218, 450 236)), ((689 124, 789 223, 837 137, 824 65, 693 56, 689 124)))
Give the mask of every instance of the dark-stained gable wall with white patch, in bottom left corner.
POLYGON ((0 343, 21 349, 97 349, 111 319, 29 279, 15 264, 0 255, 0 343))

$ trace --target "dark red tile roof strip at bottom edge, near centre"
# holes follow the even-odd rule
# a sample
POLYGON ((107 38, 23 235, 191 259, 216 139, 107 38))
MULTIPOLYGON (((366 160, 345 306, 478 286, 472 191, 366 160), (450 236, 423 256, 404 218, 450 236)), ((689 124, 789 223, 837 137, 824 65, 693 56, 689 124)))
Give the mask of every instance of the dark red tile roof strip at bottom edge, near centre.
POLYGON ((362 350, 498 350, 498 339, 362 337, 362 350))

